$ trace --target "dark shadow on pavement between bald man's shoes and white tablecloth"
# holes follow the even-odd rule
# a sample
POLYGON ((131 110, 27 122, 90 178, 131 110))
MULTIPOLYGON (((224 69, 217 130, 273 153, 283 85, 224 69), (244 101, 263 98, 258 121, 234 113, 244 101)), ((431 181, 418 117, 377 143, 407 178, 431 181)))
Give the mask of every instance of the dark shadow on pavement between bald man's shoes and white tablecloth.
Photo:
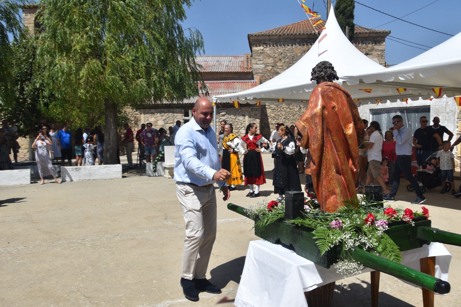
POLYGON ((224 289, 230 281, 240 283, 245 256, 223 263, 210 271, 210 283, 224 289))

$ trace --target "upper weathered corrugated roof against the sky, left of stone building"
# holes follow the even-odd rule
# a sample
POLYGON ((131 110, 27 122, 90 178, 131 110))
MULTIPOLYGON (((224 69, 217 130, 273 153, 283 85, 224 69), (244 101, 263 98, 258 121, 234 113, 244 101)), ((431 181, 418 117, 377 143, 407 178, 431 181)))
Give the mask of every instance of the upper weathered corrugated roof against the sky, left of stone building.
POLYGON ((251 72, 251 54, 198 55, 195 61, 202 65, 201 72, 251 72))

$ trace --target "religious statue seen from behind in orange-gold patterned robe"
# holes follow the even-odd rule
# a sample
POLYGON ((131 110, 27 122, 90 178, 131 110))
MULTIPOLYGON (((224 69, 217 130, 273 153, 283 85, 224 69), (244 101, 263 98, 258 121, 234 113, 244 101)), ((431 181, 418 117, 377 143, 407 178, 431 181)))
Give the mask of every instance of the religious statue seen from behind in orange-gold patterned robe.
POLYGON ((333 83, 339 79, 333 65, 322 61, 311 76, 318 85, 296 126, 302 134, 301 147, 312 156, 306 173, 312 176, 320 209, 332 213, 343 201, 357 198, 358 148, 365 131, 349 92, 333 83))

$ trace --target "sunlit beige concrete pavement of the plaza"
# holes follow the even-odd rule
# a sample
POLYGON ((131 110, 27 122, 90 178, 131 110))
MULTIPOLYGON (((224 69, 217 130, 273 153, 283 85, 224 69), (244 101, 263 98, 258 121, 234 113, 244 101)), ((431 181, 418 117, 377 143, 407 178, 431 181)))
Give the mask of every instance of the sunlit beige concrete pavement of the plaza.
MULTIPOLYGON (((263 154, 263 160, 271 170, 271 156, 263 154)), ((261 195, 272 200, 272 172, 266 176, 261 195)), ((409 204, 415 196, 405 186, 402 180, 393 206, 420 211, 409 204)), ((264 198, 249 199, 247 193, 240 186, 226 202, 218 195, 218 235, 207 277, 223 293, 201 293, 200 301, 191 302, 179 285, 184 220, 172 179, 124 169, 120 179, 56 184, 48 178, 44 185, 2 186, 0 306, 233 306, 248 242, 259 238, 253 221, 226 204, 264 198)), ((461 233, 461 199, 438 189, 425 196, 432 226, 461 233)), ((451 292, 436 295, 435 306, 459 306, 461 248, 446 247, 453 255, 451 292)), ((338 281, 331 306, 370 301, 365 273, 338 281)), ((381 274, 379 304, 422 306, 421 291, 381 274)))

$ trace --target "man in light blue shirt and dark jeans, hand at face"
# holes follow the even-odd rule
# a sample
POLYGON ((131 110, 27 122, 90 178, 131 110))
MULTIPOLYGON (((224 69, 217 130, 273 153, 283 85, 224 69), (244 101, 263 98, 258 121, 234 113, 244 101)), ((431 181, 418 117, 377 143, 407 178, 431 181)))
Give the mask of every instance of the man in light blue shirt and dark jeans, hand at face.
POLYGON ((400 185, 400 174, 403 172, 403 175, 410 182, 416 193, 416 200, 411 203, 419 205, 426 201, 426 197, 424 197, 418 181, 411 173, 412 132, 410 128, 403 124, 403 118, 400 115, 392 118, 392 124, 394 125, 397 159, 394 166, 394 183, 389 195, 384 197, 384 201, 396 201, 394 197, 400 185))

